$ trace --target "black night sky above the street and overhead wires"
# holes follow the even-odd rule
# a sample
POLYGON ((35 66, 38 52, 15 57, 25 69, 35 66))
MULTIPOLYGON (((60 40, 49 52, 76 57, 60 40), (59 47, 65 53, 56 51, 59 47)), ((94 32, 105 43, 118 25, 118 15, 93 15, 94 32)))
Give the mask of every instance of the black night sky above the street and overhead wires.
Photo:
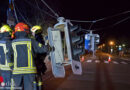
MULTIPOLYGON (((6 20, 6 8, 8 0, 1 0, 0 3, 0 18, 1 22, 6 20)), ((18 4, 24 0, 15 0, 18 4), (19 1, 19 2, 18 2, 19 1)), ((34 1, 34 0, 27 0, 34 1)), ((40 0, 37 0, 40 2, 40 0)), ((60 16, 71 20, 96 20, 108 16, 112 16, 125 11, 130 11, 130 0, 45 0, 48 5, 55 10, 60 16)), ((22 2, 22 6, 24 5, 22 2)), ((26 6, 27 4, 25 4, 26 6)), ((42 5, 40 4, 41 8, 42 5)), ((30 8, 31 9, 31 8, 30 8)), ((33 8, 32 8, 33 9, 33 8)), ((45 7, 43 8, 45 9, 45 7)), ((46 9, 47 10, 47 9, 46 9)), ((47 10, 50 12, 49 10, 47 10)), ((51 13, 53 15, 53 13, 51 13)), ((94 33, 100 34, 101 43, 105 42, 106 39, 119 39, 126 38, 130 39, 130 19, 121 22, 115 26, 111 26, 120 20, 130 17, 130 12, 122 14, 113 18, 109 18, 93 24, 92 30, 96 30, 94 33)), ((74 22, 72 22, 74 23, 74 22)), ((84 29, 89 29, 91 23, 74 23, 75 25, 81 25, 84 29)))

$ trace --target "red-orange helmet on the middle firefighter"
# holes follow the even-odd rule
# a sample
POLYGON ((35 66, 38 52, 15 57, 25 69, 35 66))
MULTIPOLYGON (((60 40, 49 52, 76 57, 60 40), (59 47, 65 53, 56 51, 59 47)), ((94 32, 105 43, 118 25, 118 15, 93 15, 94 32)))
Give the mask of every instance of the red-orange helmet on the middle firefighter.
POLYGON ((22 31, 29 33, 29 26, 25 23, 20 22, 16 24, 15 32, 22 32, 22 31))

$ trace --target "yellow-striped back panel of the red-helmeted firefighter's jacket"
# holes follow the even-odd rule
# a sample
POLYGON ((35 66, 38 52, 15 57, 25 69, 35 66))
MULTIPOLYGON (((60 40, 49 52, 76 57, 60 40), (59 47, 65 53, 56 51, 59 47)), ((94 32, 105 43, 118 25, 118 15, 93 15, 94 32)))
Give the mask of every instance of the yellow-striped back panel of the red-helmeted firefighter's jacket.
POLYGON ((12 42, 12 47, 14 50, 13 74, 36 73, 31 39, 15 39, 12 42))

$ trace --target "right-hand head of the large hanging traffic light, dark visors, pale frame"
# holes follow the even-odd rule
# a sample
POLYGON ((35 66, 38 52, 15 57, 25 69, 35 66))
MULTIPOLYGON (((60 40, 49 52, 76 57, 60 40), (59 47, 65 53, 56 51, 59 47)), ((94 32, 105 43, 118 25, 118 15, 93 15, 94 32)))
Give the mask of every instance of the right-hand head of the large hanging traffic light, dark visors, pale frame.
POLYGON ((84 53, 83 36, 79 26, 72 26, 67 22, 65 27, 65 39, 67 46, 68 59, 71 62, 72 71, 76 75, 82 74, 82 67, 80 62, 80 55, 84 53))

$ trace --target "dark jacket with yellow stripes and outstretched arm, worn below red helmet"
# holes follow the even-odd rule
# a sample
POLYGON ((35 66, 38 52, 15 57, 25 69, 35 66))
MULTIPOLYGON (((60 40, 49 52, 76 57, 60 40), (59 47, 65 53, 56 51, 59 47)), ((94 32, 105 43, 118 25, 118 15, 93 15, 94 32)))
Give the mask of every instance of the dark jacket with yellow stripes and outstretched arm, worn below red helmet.
POLYGON ((27 36, 26 32, 16 32, 16 39, 12 41, 14 51, 13 74, 37 73, 34 61, 35 54, 47 52, 47 47, 27 36))

